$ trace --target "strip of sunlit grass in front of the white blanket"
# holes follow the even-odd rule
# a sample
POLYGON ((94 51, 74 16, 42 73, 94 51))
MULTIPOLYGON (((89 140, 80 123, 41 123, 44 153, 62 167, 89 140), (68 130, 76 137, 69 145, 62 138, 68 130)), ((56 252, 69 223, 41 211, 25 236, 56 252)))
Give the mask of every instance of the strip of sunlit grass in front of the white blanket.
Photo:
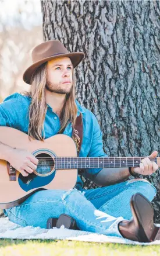
POLYGON ((0 240, 1 256, 156 256, 160 255, 160 245, 140 246, 122 244, 100 244, 80 241, 56 240, 0 240))

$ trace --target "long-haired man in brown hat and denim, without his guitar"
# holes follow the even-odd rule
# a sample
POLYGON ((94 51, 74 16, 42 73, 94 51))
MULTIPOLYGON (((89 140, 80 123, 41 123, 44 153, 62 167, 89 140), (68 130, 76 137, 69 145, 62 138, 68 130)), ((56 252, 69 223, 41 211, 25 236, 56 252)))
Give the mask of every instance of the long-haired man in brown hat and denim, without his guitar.
MULTIPOLYGON (((1 103, 0 125, 19 129, 42 141, 57 133, 72 137, 72 127, 81 113, 83 143, 79 157, 107 157, 97 119, 75 99, 74 68, 83 60, 84 53, 69 53, 59 40, 50 40, 36 46, 32 58, 33 64, 23 74, 24 81, 31 85, 30 92, 10 95, 1 103)), ((154 151, 151 157, 156 156, 154 151)), ((30 152, 2 143, 0 159, 10 162, 23 176, 30 175, 38 165, 30 152)), ((104 187, 84 190, 78 177, 74 189, 35 192, 4 213, 22 226, 43 228, 50 217, 66 213, 76 219, 81 230, 136 241, 158 239, 159 229, 153 224, 150 204, 156 193, 154 186, 144 179, 122 182, 130 174, 148 175, 157 169, 156 162, 148 157, 130 172, 128 168, 86 169, 84 177, 104 187), (131 212, 133 220, 129 221, 131 212)))

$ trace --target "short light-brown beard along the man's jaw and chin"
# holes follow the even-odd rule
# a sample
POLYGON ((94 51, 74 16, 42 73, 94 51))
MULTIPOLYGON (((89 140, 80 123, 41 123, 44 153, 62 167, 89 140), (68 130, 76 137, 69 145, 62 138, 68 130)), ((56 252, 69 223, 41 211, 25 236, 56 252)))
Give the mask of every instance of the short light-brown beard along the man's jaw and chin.
POLYGON ((56 94, 69 95, 70 92, 72 91, 73 85, 71 87, 62 88, 61 83, 54 84, 50 81, 47 81, 45 87, 48 89, 49 92, 55 92, 56 94))

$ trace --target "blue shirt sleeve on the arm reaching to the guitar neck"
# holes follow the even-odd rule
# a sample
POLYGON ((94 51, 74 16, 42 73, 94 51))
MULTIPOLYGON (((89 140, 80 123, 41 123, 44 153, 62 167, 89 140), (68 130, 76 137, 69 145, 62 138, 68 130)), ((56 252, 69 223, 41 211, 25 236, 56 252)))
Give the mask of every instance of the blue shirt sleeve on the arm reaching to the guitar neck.
MULTIPOLYGON (((102 132, 99 127, 98 121, 94 114, 92 113, 93 117, 93 136, 92 136, 92 141, 91 141, 91 147, 90 151, 87 155, 87 157, 108 157, 108 155, 105 154, 104 149, 103 149, 103 141, 102 141, 102 132)), ((90 168, 86 169, 84 172, 84 177, 87 177, 87 174, 90 175, 97 175, 99 171, 101 171, 102 168, 90 168)))

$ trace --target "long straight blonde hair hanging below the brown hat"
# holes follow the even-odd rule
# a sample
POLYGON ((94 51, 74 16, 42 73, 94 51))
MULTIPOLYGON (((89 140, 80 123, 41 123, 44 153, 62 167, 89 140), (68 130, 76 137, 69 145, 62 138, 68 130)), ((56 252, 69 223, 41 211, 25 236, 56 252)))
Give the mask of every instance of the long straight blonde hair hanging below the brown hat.
MULTIPOLYGON (((47 63, 41 65, 31 78, 30 91, 23 91, 22 94, 31 98, 29 106, 29 139, 44 141, 44 120, 47 112, 47 103, 45 101, 45 85, 47 82, 47 63), (43 132, 43 136, 42 136, 43 132)), ((63 133, 69 122, 74 126, 77 117, 76 82, 73 70, 73 87, 70 94, 66 94, 63 108, 60 114, 61 127, 58 133, 63 133)))

